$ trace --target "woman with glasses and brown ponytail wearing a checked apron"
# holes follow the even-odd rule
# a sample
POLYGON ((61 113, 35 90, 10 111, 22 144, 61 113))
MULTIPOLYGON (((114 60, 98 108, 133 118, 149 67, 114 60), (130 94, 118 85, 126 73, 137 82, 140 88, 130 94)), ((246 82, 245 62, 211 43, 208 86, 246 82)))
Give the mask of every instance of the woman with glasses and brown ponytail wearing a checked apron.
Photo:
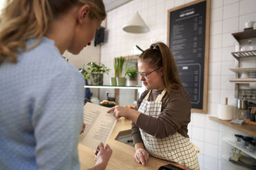
POLYGON ((136 110, 122 106, 109 110, 116 118, 126 117, 133 121, 135 160, 146 165, 150 154, 188 169, 200 169, 187 134, 190 97, 182 86, 169 47, 158 42, 143 51, 138 59, 138 73, 147 90, 138 99, 136 110))

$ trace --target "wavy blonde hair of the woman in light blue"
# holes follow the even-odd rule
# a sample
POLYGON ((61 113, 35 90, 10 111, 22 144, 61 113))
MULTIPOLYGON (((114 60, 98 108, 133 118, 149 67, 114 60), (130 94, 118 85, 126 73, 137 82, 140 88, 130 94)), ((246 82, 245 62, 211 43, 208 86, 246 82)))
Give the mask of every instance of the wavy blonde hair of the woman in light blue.
POLYGON ((17 62, 20 49, 27 49, 26 40, 37 38, 31 48, 36 47, 55 17, 84 4, 90 6, 91 19, 105 19, 102 0, 6 0, 0 16, 0 64, 17 62))

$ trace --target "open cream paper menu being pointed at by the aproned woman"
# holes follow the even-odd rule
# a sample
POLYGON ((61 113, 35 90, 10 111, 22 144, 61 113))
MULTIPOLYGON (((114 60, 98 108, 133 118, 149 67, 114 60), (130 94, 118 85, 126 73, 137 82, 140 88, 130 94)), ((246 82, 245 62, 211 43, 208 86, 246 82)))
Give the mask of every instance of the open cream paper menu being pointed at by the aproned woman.
POLYGON ((107 113, 109 108, 87 102, 85 104, 83 122, 85 132, 80 135, 79 143, 96 149, 100 143, 107 144, 116 125, 116 118, 107 113))

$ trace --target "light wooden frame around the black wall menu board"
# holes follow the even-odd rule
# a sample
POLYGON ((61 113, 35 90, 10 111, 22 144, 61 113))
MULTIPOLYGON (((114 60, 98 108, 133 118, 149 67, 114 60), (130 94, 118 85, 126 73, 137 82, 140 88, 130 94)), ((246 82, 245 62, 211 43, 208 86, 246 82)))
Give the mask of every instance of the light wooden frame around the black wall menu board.
MULTIPOLYGON (((195 4, 199 4, 199 3, 204 5, 204 7, 206 8, 206 10, 205 10, 205 23, 204 23, 204 25, 205 25, 204 65, 202 66, 202 69, 201 69, 201 71, 204 71, 204 72, 202 72, 204 74, 204 80, 203 80, 204 88, 200 89, 200 91, 202 91, 202 94, 203 94, 202 95, 202 108, 195 108, 195 107, 193 107, 193 104, 192 104, 191 112, 206 113, 207 112, 207 97, 208 97, 208 80, 209 80, 208 73, 209 73, 209 39, 210 39, 210 20, 211 20, 211 18, 210 18, 211 0, 192 1, 191 3, 186 3, 184 5, 180 5, 178 7, 171 8, 171 9, 168 10, 167 45, 168 45, 168 47, 170 47, 171 25, 175 25, 175 22, 171 23, 171 14, 173 12, 182 11, 182 9, 184 10, 184 8, 187 8, 191 5, 195 5, 195 4), (202 3, 202 2, 206 2, 206 4, 202 3)), ((191 28, 186 27, 185 29, 191 29, 191 28)), ((174 57, 175 57, 175 55, 174 55, 174 57)), ((197 63, 195 63, 195 64, 197 64, 197 63)))

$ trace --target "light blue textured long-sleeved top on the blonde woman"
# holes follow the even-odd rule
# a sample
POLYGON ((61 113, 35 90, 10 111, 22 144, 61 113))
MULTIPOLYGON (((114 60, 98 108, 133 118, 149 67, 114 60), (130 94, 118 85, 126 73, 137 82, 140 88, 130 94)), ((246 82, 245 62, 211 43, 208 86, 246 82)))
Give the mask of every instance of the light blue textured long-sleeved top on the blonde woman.
POLYGON ((80 169, 83 85, 48 38, 0 64, 0 169, 80 169))

